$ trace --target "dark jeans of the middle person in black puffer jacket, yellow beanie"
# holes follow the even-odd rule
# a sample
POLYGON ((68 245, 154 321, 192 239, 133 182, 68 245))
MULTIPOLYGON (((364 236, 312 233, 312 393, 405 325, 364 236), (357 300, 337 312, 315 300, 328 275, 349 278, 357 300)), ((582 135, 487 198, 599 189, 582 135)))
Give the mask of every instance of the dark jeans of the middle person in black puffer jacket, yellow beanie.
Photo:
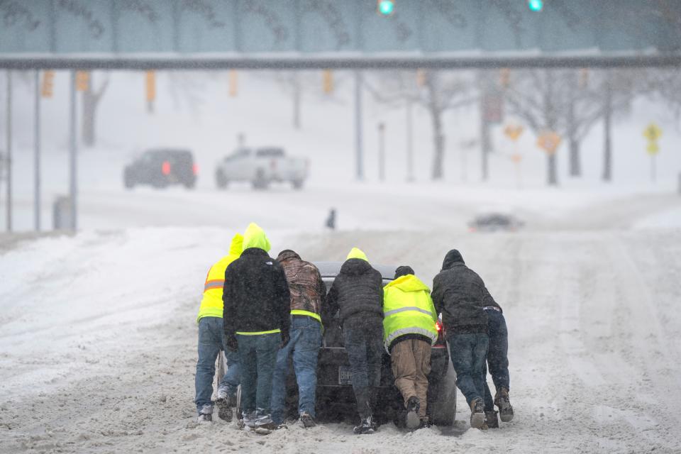
POLYGON ((361 419, 370 416, 376 387, 381 383, 383 357, 383 323, 377 319, 375 326, 344 323, 343 343, 350 360, 350 379, 361 419))

